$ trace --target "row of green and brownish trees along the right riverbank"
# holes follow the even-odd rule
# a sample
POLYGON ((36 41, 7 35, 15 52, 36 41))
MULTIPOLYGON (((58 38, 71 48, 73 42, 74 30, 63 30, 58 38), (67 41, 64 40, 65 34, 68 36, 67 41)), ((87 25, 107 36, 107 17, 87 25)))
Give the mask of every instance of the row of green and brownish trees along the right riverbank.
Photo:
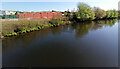
POLYGON ((85 3, 78 3, 76 11, 65 11, 64 12, 70 20, 79 20, 79 21, 86 21, 86 20, 98 20, 98 19, 113 19, 119 16, 117 10, 103 10, 99 7, 90 7, 85 3))

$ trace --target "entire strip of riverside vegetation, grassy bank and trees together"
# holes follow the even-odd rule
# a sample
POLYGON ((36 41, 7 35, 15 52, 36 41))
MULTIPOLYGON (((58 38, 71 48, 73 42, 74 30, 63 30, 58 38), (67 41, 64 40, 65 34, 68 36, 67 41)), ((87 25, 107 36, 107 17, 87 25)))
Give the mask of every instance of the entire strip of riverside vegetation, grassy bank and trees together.
POLYGON ((31 20, 19 19, 18 21, 4 21, 2 22, 2 31, 0 31, 0 33, 2 34, 1 38, 3 38, 28 33, 47 27, 77 23, 79 21, 115 19, 118 18, 118 15, 118 11, 116 10, 105 11, 98 7, 91 8, 85 3, 79 3, 76 11, 65 11, 62 18, 31 20))

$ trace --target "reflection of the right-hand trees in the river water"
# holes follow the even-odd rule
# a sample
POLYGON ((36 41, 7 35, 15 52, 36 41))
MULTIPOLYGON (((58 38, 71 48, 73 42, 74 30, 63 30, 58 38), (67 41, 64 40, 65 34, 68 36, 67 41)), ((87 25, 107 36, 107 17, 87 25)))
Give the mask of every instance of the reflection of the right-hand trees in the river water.
POLYGON ((82 22, 82 23, 72 24, 70 29, 75 29, 76 37, 82 37, 85 34, 88 34, 89 30, 101 29, 103 26, 112 27, 115 24, 115 22, 116 19, 82 22))

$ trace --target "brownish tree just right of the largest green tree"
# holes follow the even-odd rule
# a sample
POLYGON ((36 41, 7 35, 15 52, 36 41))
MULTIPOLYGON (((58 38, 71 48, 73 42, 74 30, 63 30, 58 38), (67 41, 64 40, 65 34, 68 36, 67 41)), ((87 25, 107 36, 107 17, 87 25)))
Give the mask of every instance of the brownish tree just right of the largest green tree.
POLYGON ((102 18, 104 18, 106 16, 106 11, 104 11, 101 8, 94 7, 94 11, 95 11, 96 19, 102 19, 102 18))

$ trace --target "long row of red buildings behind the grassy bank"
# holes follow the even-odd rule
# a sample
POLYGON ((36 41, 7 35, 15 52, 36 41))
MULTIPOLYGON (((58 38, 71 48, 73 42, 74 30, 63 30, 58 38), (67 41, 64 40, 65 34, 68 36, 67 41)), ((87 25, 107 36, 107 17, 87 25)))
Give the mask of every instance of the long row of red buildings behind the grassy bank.
POLYGON ((26 14, 21 13, 19 14, 19 18, 30 18, 30 19, 51 19, 51 18, 61 18, 62 13, 61 12, 42 12, 42 13, 31 13, 28 12, 26 14))

